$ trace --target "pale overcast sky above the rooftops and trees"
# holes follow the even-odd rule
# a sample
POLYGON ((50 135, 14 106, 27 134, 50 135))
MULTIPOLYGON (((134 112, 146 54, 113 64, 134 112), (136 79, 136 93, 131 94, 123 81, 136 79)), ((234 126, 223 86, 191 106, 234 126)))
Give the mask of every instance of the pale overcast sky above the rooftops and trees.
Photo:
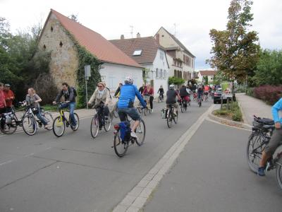
MULTIPOLYGON (((205 60, 210 57, 209 30, 226 28, 231 0, 0 0, 0 16, 6 18, 11 30, 46 20, 50 8, 65 16, 78 15, 83 25, 106 39, 154 36, 161 26, 176 37, 197 58, 195 69, 209 69, 205 60), (176 28, 175 25, 176 24, 176 28)), ((255 0, 252 6, 252 30, 259 33, 263 48, 282 49, 282 1, 255 0)))

